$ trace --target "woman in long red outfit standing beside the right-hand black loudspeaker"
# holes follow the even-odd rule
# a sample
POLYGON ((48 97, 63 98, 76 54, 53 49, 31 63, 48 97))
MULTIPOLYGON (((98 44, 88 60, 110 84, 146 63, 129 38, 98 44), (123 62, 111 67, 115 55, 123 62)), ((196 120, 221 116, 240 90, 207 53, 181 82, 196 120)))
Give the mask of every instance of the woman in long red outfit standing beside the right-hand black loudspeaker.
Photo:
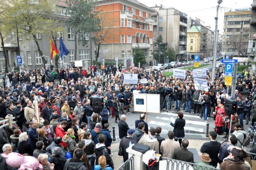
POLYGON ((215 118, 215 131, 218 135, 223 133, 223 119, 225 117, 225 109, 223 104, 219 104, 219 108, 215 118))

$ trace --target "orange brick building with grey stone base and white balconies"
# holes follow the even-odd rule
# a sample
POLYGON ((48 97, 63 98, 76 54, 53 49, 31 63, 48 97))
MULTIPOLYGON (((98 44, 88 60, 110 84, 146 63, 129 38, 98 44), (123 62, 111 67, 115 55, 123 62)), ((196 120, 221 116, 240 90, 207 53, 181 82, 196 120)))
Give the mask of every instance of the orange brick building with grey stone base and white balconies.
POLYGON ((102 40, 100 58, 105 60, 129 59, 134 49, 144 51, 146 61, 153 60, 152 8, 136 0, 99 0, 96 8, 104 13, 108 26, 102 40))

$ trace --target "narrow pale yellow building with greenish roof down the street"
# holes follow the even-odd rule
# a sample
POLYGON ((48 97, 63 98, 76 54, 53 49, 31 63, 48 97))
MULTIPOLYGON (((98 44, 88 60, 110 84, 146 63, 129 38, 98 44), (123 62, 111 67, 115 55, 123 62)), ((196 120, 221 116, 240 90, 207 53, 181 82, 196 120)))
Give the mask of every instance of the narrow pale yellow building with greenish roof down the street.
POLYGON ((197 26, 192 26, 188 32, 187 51, 188 55, 194 58, 194 55, 200 55, 201 32, 197 26))

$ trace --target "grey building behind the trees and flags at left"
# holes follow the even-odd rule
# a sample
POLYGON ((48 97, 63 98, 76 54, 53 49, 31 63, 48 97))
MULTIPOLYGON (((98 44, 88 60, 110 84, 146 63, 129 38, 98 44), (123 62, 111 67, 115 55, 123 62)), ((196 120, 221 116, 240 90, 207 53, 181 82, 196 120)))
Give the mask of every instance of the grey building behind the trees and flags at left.
MULTIPOLYGON (((61 18, 66 18, 69 16, 67 5, 65 0, 57 0, 56 6, 58 11, 56 15, 61 18)), ((60 36, 62 36, 63 42, 66 47, 69 49, 70 53, 64 58, 64 66, 68 66, 74 63, 74 50, 75 50, 75 41, 74 41, 74 29, 69 28, 66 24, 63 24, 63 31, 58 32, 57 35, 57 49, 59 50, 60 47, 60 36)), ((19 34, 19 48, 20 48, 20 56, 22 56, 22 67, 25 68, 42 68, 43 62, 42 57, 38 52, 38 48, 36 46, 35 41, 33 40, 32 35, 23 36, 19 34)), ((78 36, 79 37, 79 36, 78 36)), ((40 45, 40 49, 42 50, 44 57, 47 60, 47 63, 51 63, 50 56, 50 44, 49 44, 49 35, 40 34, 39 32, 36 33, 36 38, 38 39, 38 43, 40 45)), ((84 38, 88 40, 88 44, 82 46, 82 43, 77 44, 77 60, 83 61, 83 66, 90 65, 90 55, 91 55, 91 48, 90 48, 90 34, 84 34, 84 38)), ((92 42, 93 43, 93 42, 92 42)), ((8 55, 8 63, 9 66, 12 68, 14 67, 14 63, 16 64, 15 56, 18 55, 18 43, 17 43, 17 34, 16 31, 10 33, 10 41, 7 42, 5 45, 6 54, 8 55)), ((92 44, 92 46, 94 46, 92 44)), ((0 62, 4 63, 4 58, 0 57, 0 62)), ((55 66, 55 58, 52 60, 55 66)), ((63 62, 62 62, 63 64, 63 62)), ((60 68, 60 59, 59 64, 60 68)), ((63 66, 63 65, 62 65, 63 66)))

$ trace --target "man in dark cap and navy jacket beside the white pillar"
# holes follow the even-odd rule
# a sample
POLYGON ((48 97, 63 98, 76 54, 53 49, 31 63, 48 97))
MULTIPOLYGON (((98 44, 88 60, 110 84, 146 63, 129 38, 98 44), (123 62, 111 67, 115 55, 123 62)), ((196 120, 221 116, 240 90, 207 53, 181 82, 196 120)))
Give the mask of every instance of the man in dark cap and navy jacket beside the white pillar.
POLYGON ((123 159, 124 162, 128 160, 128 153, 126 152, 126 149, 129 147, 130 142, 132 144, 136 144, 137 141, 134 140, 132 137, 134 135, 135 130, 134 129, 128 129, 127 130, 127 136, 122 138, 119 144, 119 149, 123 150, 123 159))

